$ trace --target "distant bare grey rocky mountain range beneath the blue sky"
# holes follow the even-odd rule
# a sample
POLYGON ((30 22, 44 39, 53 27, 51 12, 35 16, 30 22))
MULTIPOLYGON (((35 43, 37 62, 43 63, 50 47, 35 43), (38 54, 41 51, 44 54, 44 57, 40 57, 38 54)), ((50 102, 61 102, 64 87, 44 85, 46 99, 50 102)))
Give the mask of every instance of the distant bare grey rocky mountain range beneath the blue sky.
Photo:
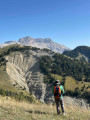
POLYGON ((63 53, 63 51, 65 50, 70 50, 69 48, 60 45, 58 43, 53 42, 50 38, 37 38, 34 39, 32 37, 24 37, 24 38, 20 38, 18 42, 15 41, 8 41, 5 44, 0 45, 0 48, 7 46, 7 45, 11 45, 11 44, 21 44, 24 46, 32 46, 32 47, 37 47, 37 48, 47 48, 50 50, 53 50, 54 52, 59 52, 59 53, 63 53))

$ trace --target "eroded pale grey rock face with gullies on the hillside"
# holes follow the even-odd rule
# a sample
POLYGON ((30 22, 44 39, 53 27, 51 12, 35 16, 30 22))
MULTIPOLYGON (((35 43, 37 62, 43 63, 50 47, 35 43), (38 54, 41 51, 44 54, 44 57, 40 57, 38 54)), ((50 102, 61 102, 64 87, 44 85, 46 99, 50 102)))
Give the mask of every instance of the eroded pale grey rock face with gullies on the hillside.
POLYGON ((52 86, 43 82, 44 75, 40 72, 39 58, 42 55, 50 55, 41 50, 13 52, 6 56, 8 60, 6 71, 12 85, 19 84, 22 89, 34 94, 42 102, 52 98, 52 86))

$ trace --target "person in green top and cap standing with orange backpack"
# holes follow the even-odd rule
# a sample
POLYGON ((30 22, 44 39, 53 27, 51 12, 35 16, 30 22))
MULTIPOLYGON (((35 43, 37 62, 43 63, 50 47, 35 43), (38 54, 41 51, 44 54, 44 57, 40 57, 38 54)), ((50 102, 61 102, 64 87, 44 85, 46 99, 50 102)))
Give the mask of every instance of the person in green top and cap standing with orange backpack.
POLYGON ((57 114, 60 114, 59 105, 61 105, 62 113, 63 113, 63 115, 65 115, 63 96, 62 96, 62 94, 64 94, 64 88, 63 88, 63 86, 60 85, 59 80, 56 80, 54 82, 54 85, 52 88, 52 93, 54 94, 54 98, 55 98, 55 102, 56 102, 57 114))

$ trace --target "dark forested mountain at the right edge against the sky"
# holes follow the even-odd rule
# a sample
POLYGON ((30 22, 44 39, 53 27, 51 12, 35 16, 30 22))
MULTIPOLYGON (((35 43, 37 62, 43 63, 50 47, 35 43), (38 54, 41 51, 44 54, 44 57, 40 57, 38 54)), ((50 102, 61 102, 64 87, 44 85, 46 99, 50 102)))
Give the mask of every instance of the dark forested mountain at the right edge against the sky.
POLYGON ((63 54, 71 58, 90 62, 90 47, 88 46, 78 46, 74 50, 64 51, 63 54))

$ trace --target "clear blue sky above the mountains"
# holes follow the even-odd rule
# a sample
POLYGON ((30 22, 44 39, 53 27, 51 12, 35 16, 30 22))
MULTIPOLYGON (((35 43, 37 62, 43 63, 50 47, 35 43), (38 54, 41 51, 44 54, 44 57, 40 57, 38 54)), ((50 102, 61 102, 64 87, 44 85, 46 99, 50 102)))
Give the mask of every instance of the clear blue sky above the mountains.
POLYGON ((90 46, 90 0, 0 0, 0 44, 26 36, 90 46))

